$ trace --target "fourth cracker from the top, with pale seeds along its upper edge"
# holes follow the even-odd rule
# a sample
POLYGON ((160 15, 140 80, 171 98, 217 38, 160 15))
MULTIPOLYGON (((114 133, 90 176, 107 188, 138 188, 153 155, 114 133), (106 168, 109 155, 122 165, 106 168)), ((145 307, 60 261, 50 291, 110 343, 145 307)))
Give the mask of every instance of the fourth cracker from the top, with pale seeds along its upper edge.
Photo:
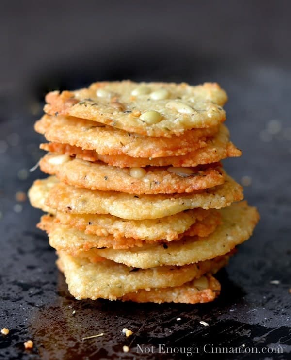
POLYGON ((190 175, 179 175, 162 167, 148 167, 143 178, 132 177, 129 168, 120 169, 67 155, 47 154, 40 160, 39 165, 42 171, 56 175, 69 185, 137 195, 171 194, 212 188, 223 184, 225 177, 224 171, 217 164, 190 168, 190 175))

